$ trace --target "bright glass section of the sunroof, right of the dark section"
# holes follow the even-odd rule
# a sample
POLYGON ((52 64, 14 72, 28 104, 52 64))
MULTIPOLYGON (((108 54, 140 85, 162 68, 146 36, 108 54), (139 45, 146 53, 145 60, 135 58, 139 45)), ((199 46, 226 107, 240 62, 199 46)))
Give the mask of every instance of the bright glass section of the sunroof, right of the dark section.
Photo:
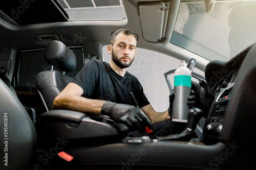
POLYGON ((69 20, 125 19, 122 0, 58 0, 69 20))

